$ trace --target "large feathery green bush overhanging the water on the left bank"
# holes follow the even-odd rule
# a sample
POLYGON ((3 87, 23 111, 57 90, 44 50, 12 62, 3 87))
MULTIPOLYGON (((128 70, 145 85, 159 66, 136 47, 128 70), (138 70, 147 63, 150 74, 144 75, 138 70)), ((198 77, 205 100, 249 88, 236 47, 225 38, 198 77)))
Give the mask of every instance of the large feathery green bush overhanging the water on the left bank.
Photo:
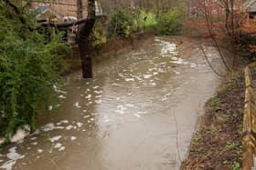
MULTIPOLYGON (((33 21, 26 19, 29 24, 33 21)), ((3 1, 0 27, 0 135, 8 138, 20 125, 35 130, 37 106, 48 102, 69 47, 53 30, 48 30, 47 38, 28 31, 3 1)))

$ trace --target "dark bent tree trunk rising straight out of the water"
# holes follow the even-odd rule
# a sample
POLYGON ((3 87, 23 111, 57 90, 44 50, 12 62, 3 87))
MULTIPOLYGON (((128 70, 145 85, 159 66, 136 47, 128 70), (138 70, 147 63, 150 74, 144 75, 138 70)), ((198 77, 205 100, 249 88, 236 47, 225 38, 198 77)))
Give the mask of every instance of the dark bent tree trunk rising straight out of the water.
POLYGON ((95 0, 88 1, 88 20, 80 25, 78 33, 78 45, 83 78, 92 78, 92 63, 89 37, 95 23, 95 0))

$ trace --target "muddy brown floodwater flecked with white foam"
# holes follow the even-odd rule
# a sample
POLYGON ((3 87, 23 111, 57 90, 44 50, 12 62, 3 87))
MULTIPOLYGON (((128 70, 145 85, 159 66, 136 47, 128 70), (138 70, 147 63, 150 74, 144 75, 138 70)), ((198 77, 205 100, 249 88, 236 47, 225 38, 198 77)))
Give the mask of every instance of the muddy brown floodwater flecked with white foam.
MULTIPOLYGON (((187 155, 197 117, 221 79, 193 43, 155 37, 55 85, 40 129, 1 151, 0 169, 171 170, 187 155)), ((211 62, 218 53, 205 46, 211 62)), ((221 66, 219 66, 221 67, 221 66)))

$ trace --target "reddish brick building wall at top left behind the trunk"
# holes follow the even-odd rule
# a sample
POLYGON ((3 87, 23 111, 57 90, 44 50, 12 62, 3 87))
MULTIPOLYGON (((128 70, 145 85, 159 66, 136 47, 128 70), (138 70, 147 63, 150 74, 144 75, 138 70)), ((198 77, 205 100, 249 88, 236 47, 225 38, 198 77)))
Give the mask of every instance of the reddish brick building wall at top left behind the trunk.
MULTIPOLYGON (((87 0, 82 1, 83 17, 86 17, 87 12, 87 0)), ((42 0, 32 0, 31 7, 35 8, 37 5, 42 4, 42 0)), ((74 16, 77 17, 77 0, 45 0, 43 4, 51 6, 56 10, 59 15, 62 16, 74 16)))

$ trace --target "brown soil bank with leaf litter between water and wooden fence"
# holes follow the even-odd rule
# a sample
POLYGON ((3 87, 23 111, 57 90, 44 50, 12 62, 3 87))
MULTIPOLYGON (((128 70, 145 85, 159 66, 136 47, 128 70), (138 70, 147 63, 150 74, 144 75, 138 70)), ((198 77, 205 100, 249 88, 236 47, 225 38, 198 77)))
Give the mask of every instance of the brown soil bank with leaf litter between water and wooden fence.
POLYGON ((208 100, 181 169, 240 169, 244 90, 243 74, 236 74, 208 100))

